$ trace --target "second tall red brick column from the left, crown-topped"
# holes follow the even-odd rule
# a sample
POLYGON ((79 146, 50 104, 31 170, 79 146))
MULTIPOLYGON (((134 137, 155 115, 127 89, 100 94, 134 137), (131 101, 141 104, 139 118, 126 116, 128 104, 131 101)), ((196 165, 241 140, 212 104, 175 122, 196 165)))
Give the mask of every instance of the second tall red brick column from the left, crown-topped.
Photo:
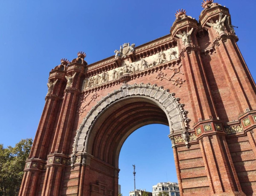
POLYGON ((73 122, 76 115, 76 107, 81 93, 81 84, 84 77, 84 68, 87 63, 84 61, 85 53, 78 53, 78 58, 67 66, 65 75, 66 88, 62 106, 59 109, 58 122, 55 134, 52 137, 51 153, 48 155, 47 173, 43 187, 46 195, 59 195, 64 172, 63 160, 68 159, 68 147, 70 135, 73 130, 73 122), (56 161, 58 160, 58 161, 56 161))

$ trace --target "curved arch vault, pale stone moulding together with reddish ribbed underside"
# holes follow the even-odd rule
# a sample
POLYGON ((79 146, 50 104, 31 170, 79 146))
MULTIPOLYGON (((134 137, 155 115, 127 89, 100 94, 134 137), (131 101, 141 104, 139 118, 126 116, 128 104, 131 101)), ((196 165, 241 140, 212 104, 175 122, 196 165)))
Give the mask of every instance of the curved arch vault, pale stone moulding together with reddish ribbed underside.
POLYGON ((114 161, 118 167, 122 144, 137 128, 160 123, 170 127, 170 134, 185 130, 185 113, 174 95, 150 84, 123 85, 109 93, 84 118, 77 130, 73 153, 90 153, 110 164, 114 161))

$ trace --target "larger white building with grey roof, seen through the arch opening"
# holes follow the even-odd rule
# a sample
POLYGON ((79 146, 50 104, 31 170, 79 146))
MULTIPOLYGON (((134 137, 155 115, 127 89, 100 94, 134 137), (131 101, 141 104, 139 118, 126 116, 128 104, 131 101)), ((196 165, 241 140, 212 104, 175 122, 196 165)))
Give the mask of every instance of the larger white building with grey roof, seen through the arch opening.
MULTIPOLYGON (((178 183, 176 182, 160 182, 152 186, 152 195, 158 196, 159 193, 168 193, 169 196, 180 196, 178 183)), ((163 194, 165 196, 165 194, 163 194)), ((167 196, 167 195, 166 195, 167 196)))

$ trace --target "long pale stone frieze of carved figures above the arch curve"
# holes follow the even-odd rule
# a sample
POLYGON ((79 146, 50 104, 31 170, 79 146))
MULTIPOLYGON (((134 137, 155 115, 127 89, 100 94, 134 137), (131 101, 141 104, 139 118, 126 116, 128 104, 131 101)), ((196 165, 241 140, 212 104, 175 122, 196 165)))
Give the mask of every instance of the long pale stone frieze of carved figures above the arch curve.
MULTIPOLYGON (((103 71, 97 75, 92 75, 85 78, 83 81, 82 90, 119 80, 119 78, 122 78, 122 75, 124 74, 134 75, 137 72, 141 72, 145 69, 149 69, 153 66, 157 66, 168 61, 173 61, 177 58, 177 48, 171 48, 166 51, 161 51, 157 54, 141 58, 137 61, 134 61, 133 63, 130 63, 129 61, 123 61, 121 66, 118 68, 109 71, 103 71)), ((180 71, 178 72, 181 73, 180 71)), ((175 73, 178 72, 176 71, 175 73)))

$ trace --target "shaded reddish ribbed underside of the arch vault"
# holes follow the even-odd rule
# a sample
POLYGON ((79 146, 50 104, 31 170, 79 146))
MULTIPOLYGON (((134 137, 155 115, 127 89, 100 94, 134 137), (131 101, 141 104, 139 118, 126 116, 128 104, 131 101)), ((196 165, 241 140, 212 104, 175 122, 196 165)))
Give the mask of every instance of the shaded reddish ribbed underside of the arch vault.
POLYGON ((153 123, 169 125, 160 107, 145 98, 120 101, 105 111, 92 127, 87 152, 118 167, 119 152, 126 138, 139 127, 153 123))

